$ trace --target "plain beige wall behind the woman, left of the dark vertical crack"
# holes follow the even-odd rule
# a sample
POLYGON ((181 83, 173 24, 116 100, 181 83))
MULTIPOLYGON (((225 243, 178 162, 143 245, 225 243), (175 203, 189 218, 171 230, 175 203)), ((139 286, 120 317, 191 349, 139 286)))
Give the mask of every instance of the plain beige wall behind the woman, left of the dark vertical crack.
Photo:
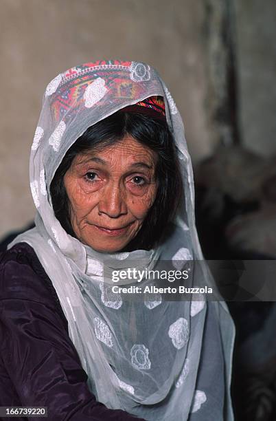
POLYGON ((203 18, 194 0, 1 0, 0 235, 34 216, 28 160, 41 98, 49 80, 73 65, 150 63, 183 114, 194 160, 210 151, 203 18))

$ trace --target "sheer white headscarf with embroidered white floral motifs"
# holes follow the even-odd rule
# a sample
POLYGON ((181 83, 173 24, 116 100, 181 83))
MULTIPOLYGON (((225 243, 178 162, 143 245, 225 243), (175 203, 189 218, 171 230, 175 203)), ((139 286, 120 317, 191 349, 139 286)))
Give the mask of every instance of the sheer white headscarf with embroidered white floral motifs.
MULTIPOLYGON (((218 323, 225 366, 225 389, 218 396, 225 407, 221 420, 233 420, 229 396, 233 323, 225 304, 170 302, 160 296, 156 301, 146 296, 144 301, 128 301, 112 293, 110 279, 104 278, 106 258, 109 269, 113 264, 128 268, 133 261, 144 269, 157 269, 161 259, 203 259, 183 122, 157 72, 144 63, 101 61, 73 67, 51 80, 32 144, 30 184, 37 208, 36 228, 10 246, 25 241, 38 255, 56 289, 69 336, 97 400, 149 421, 211 420, 203 411, 211 402, 208 392, 198 389, 207 308, 211 306, 209 314, 218 323), (69 147, 88 127, 150 96, 165 100, 185 202, 179 206, 171 235, 158 248, 109 255, 95 252, 68 235, 56 219, 49 195, 51 180, 69 147), (192 418, 195 415, 197 418, 192 418)), ((196 281, 189 282, 208 285, 209 273, 203 269, 196 281)))

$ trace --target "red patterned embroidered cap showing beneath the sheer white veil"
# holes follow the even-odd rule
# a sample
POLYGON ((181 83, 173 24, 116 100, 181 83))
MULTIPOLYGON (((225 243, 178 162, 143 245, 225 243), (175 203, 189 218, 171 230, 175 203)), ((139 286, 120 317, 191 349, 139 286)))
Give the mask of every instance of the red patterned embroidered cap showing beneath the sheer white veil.
MULTIPOLYGON (((112 96, 113 105, 116 102, 120 105, 122 98, 133 100, 143 97, 144 87, 137 82, 150 79, 150 67, 130 61, 96 61, 72 67, 60 78, 55 83, 53 81, 48 89, 52 94, 56 89, 51 96, 51 111, 56 122, 67 122, 84 107, 93 107, 96 103, 97 107, 101 107, 102 98, 107 92, 112 96), (115 72, 110 72, 111 69, 115 72)), ((163 112, 165 108, 160 98, 143 106, 155 107, 163 112)), ((106 102, 103 101, 103 105, 106 106, 106 102)))

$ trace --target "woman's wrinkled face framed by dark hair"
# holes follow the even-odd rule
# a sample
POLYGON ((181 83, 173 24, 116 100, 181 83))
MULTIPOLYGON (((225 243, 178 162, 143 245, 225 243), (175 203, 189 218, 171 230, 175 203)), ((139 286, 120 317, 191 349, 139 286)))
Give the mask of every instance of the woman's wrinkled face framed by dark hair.
POLYGON ((156 163, 132 136, 76 155, 64 177, 76 237, 99 252, 122 250, 154 202, 156 163))

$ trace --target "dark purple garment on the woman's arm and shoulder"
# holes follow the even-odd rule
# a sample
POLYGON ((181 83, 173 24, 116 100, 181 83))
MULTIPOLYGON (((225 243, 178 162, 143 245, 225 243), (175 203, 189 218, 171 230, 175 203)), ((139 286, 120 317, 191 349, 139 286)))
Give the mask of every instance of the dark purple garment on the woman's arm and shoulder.
POLYGON ((56 290, 25 243, 0 257, 0 406, 47 407, 54 421, 141 420, 89 391, 56 290))

